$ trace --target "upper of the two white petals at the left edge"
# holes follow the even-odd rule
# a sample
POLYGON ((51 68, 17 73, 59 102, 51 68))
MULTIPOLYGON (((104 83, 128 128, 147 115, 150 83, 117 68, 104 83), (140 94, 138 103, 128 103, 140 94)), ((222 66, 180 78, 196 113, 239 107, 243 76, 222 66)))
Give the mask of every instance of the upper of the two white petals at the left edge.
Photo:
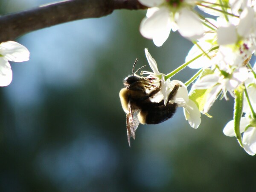
POLYGON ((6 41, 0 44, 0 54, 7 60, 14 62, 23 62, 29 60, 29 50, 20 43, 6 41))

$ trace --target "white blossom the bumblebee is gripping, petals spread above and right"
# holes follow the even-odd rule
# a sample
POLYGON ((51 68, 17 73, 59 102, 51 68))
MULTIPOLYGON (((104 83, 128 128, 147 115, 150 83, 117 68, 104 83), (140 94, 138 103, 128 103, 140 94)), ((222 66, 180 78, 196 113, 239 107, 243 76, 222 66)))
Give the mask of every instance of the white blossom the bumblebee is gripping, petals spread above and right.
POLYGON ((152 58, 151 54, 149 54, 148 49, 145 49, 145 54, 153 72, 143 72, 143 74, 147 74, 148 76, 146 78, 152 79, 152 83, 155 84, 155 86, 159 86, 159 82, 161 82, 161 92, 158 92, 157 95, 151 98, 151 101, 159 103, 163 100, 166 105, 170 92, 175 85, 180 84, 181 86, 172 102, 177 103, 179 107, 183 107, 185 118, 188 120, 190 126, 195 129, 198 128, 201 123, 201 113, 196 104, 189 99, 186 86, 179 80, 165 80, 164 74, 158 71, 157 63, 154 58, 152 58))

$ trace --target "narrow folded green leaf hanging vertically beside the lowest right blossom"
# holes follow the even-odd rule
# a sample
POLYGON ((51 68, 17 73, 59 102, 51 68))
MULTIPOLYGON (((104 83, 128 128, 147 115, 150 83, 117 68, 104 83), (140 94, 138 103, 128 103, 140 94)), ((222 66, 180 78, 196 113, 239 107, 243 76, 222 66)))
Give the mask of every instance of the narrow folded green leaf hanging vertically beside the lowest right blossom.
POLYGON ((236 138, 241 147, 243 147, 242 137, 240 133, 240 121, 243 109, 243 92, 235 89, 235 105, 234 105, 234 130, 236 133, 236 138))

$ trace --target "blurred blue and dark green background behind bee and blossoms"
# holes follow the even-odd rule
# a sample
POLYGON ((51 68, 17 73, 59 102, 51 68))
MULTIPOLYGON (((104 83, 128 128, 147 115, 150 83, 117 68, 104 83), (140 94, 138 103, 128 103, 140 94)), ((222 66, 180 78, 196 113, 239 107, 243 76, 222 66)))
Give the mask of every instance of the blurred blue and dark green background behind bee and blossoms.
MULTIPOLYGON (((0 14, 50 2, 0 0, 0 14)), ((17 39, 31 56, 11 63, 12 83, 0 88, 0 191, 256 191, 255 157, 222 133, 232 97, 216 102, 198 129, 182 109, 164 123, 140 125, 129 148, 119 90, 134 60, 147 65, 148 48, 168 73, 192 47, 178 33, 154 46, 140 35, 144 16, 114 11, 17 39)))

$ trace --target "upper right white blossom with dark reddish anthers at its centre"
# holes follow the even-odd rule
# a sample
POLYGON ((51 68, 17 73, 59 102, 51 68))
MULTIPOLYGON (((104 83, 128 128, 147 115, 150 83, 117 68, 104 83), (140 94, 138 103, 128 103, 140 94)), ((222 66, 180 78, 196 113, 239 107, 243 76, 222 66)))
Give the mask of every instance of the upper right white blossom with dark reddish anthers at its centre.
POLYGON ((256 36, 253 8, 246 8, 239 17, 239 23, 230 23, 218 28, 219 52, 215 63, 244 66, 256 50, 256 36), (228 34, 228 35, 227 35, 228 34))

